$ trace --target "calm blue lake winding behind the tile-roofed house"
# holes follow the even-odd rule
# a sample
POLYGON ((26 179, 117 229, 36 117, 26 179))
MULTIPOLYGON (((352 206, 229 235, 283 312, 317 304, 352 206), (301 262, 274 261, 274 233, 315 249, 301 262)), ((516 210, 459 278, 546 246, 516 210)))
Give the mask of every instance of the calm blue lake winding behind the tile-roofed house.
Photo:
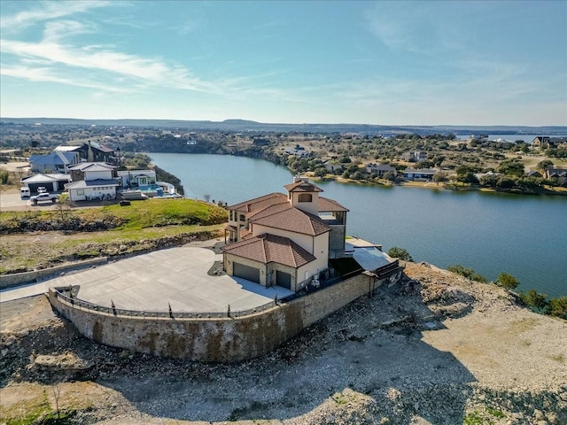
MULTIPOLYGON (((231 204, 284 192, 291 172, 253 158, 149 153, 183 182, 185 197, 231 204)), ((506 272, 518 290, 567 296, 567 197, 454 192, 421 188, 316 182, 346 206, 347 233, 384 251, 408 250, 416 261, 461 264, 489 280, 506 272)))

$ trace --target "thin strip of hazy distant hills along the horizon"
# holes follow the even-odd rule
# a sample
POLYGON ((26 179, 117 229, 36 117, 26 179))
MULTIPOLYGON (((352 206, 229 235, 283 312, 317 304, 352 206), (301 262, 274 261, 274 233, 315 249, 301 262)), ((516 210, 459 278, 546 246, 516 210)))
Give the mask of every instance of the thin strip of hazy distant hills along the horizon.
POLYGON ((252 132, 300 132, 300 133, 359 133, 368 135, 392 135, 398 133, 416 133, 432 135, 436 133, 468 135, 471 133, 491 135, 567 135, 567 127, 546 126, 381 126, 374 124, 285 124, 262 123, 251 120, 78 120, 72 118, 0 118, 2 124, 42 124, 60 126, 101 126, 101 127, 144 127, 144 128, 180 128, 187 130, 222 130, 252 132))

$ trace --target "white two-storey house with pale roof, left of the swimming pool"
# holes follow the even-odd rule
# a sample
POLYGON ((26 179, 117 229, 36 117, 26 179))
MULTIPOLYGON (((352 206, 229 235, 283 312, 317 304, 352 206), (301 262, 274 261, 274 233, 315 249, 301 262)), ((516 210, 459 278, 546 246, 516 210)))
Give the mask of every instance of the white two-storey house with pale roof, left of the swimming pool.
POLYGON ((116 198, 115 166, 104 162, 84 162, 69 168, 73 182, 65 185, 71 201, 116 198))

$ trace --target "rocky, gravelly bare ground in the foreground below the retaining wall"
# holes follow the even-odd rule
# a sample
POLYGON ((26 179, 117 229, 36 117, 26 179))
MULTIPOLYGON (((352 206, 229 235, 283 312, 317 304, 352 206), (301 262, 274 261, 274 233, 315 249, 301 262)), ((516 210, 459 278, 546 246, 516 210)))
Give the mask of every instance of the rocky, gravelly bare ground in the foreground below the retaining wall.
POLYGON ((43 297, 3 303, 0 423, 567 423, 566 321, 430 265, 406 274, 227 365, 95 344, 43 297))

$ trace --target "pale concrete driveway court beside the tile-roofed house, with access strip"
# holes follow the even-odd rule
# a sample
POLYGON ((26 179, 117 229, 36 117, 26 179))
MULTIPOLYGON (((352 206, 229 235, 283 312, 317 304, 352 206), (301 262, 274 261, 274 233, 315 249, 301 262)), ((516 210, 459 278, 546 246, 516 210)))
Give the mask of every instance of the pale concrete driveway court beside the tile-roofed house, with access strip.
POLYGON ((175 312, 233 312, 264 305, 276 296, 291 295, 283 288, 263 288, 228 275, 210 276, 208 270, 221 254, 184 246, 154 251, 105 266, 60 276, 49 281, 0 291, 0 302, 43 294, 50 287, 80 285, 78 298, 127 310, 175 312))

